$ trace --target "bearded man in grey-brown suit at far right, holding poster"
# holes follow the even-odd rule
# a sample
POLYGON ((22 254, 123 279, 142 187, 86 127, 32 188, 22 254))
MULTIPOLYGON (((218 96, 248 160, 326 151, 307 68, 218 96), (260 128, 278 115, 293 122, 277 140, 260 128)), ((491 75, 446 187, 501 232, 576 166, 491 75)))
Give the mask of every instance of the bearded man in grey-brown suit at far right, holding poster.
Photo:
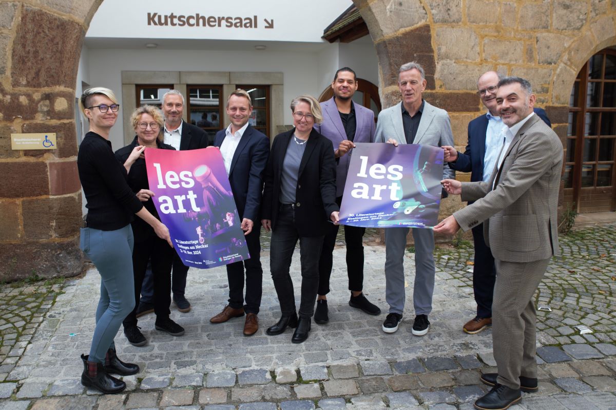
POLYGON ((455 234, 484 221, 485 241, 496 261, 492 343, 498 374, 482 374, 482 382, 494 387, 475 402, 480 410, 507 409, 521 400, 521 390, 537 391, 532 297, 549 259, 558 253, 562 144, 533 113, 535 95, 528 81, 501 79, 496 103, 506 127, 492 177, 474 183, 444 179, 447 192, 476 202, 434 227, 455 234))

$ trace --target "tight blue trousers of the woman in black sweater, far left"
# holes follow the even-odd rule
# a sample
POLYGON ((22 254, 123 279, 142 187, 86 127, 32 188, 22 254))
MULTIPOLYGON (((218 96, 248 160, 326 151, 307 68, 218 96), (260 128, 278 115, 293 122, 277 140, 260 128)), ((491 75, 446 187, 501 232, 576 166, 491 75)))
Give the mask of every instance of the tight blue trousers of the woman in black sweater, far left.
POLYGON ((100 274, 100 299, 89 361, 104 363, 107 350, 115 348, 113 337, 135 307, 133 244, 130 225, 116 231, 81 229, 79 247, 94 262, 100 274))

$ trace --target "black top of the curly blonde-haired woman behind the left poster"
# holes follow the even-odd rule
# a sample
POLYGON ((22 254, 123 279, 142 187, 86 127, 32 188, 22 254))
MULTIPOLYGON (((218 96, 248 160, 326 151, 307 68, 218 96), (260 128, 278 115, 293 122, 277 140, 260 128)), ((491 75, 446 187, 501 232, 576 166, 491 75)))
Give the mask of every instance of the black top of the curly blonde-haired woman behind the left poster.
MULTIPOLYGON (((120 162, 120 164, 124 164, 124 162, 126 162, 126 159, 128 159, 132 150, 137 145, 139 145, 139 143, 137 143, 137 136, 135 136, 132 143, 118 149, 118 151, 115 152, 116 159, 120 162)), ((156 146, 160 149, 176 150, 171 145, 158 141, 156 142, 156 146)), ((134 164, 131 165, 131 170, 128 173, 128 185, 131 187, 132 192, 135 193, 139 192, 141 189, 150 189, 150 184, 148 183, 148 173, 145 168, 145 159, 137 158, 134 164)), ((156 219, 160 220, 152 198, 142 203, 144 204, 145 209, 150 211, 156 219)), ((132 221, 132 232, 135 236, 135 242, 141 242, 142 240, 148 239, 150 235, 156 235, 154 229, 141 218, 134 218, 134 221, 132 221)))

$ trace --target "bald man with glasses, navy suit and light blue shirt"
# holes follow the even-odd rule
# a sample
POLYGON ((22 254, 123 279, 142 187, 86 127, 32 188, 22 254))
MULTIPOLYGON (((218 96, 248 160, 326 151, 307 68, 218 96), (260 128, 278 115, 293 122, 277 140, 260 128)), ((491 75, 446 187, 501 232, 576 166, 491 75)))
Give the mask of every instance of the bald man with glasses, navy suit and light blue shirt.
MULTIPOLYGON (((445 161, 462 172, 471 172, 471 182, 488 181, 498 159, 505 127, 496 109, 496 84, 499 76, 495 71, 482 74, 477 80, 477 93, 488 112, 468 124, 468 144, 464 154, 452 146, 444 146, 445 161)), ((551 126, 545 111, 535 108, 535 114, 551 126)), ((477 314, 463 326, 469 334, 479 333, 492 326, 492 294, 496 280, 496 268, 492 251, 485 244, 483 224, 472 228, 475 245, 475 263, 472 269, 472 288, 477 302, 477 314)))

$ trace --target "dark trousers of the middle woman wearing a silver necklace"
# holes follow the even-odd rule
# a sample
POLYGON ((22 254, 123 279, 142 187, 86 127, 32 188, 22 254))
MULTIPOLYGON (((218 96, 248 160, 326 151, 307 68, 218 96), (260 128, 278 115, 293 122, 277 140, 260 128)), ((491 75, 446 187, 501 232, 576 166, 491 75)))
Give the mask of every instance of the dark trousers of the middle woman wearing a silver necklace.
POLYGON ((280 310, 283 315, 295 313, 295 296, 293 280, 289 274, 291 258, 299 240, 299 260, 302 271, 302 294, 299 304, 299 316, 312 317, 318 288, 318 257, 323 246, 323 237, 301 237, 295 227, 295 211, 291 205, 282 205, 272 231, 270 248, 270 271, 280 310))

